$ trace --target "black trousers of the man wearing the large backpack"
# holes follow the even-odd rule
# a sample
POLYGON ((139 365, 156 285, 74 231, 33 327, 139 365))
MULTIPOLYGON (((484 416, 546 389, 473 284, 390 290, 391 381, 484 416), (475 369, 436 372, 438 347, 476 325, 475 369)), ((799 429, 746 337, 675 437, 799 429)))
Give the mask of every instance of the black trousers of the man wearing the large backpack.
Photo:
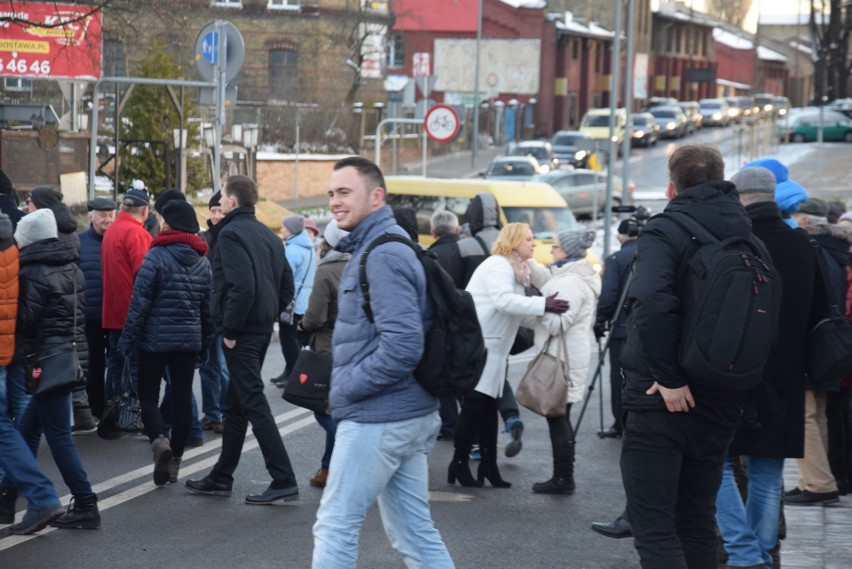
POLYGON ((621 476, 644 569, 717 569, 716 493, 741 414, 627 413, 621 476))

